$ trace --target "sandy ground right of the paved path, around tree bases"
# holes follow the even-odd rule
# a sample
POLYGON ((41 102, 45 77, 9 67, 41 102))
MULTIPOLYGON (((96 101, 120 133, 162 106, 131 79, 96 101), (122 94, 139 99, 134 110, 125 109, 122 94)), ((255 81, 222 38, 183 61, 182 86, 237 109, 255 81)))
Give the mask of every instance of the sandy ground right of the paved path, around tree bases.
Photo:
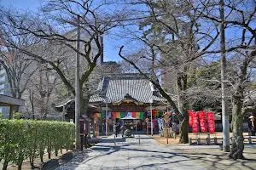
MULTIPOLYGON (((222 138, 222 133, 211 134, 211 138, 214 137, 222 138)), ((230 137, 232 133, 230 133, 230 137)), ((247 137, 247 133, 244 133, 244 137, 247 137)), ((246 160, 230 160, 229 153, 220 150, 220 147, 213 148, 207 145, 189 145, 189 144, 178 144, 179 138, 169 139, 166 144, 166 138, 154 135, 153 138, 161 144, 168 145, 171 147, 177 155, 185 156, 190 160, 193 160, 201 167, 206 169, 224 169, 224 170, 251 170, 256 169, 256 140, 254 144, 245 144, 244 156, 246 160)), ((189 138, 195 139, 197 136, 193 133, 189 133, 189 138)), ((207 138, 207 134, 200 134, 200 138, 207 138)))

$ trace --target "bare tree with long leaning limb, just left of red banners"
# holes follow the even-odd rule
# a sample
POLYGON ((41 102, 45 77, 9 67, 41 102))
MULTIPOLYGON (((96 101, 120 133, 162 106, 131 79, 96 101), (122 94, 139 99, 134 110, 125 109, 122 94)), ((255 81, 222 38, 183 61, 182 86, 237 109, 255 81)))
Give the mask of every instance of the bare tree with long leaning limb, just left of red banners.
MULTIPOLYGON (((172 105, 178 120, 181 124, 180 143, 188 143, 188 113, 186 111, 184 94, 188 88, 187 74, 192 66, 191 61, 198 59, 218 38, 218 28, 214 22, 209 22, 208 29, 201 26, 203 22, 201 14, 207 9, 207 2, 192 3, 190 1, 137 1, 148 7, 148 18, 140 22, 142 31, 137 31, 137 40, 143 42, 148 51, 148 56, 141 56, 141 59, 148 59, 152 65, 149 68, 153 74, 148 79, 160 90, 160 94, 172 105), (149 28, 148 28, 149 27, 149 28), (203 44, 203 45, 199 45, 203 44), (166 94, 160 86, 158 75, 160 68, 165 68, 162 72, 169 72, 175 75, 174 91, 177 93, 177 105, 171 97, 166 94)), ((137 68, 137 58, 128 59, 119 52, 119 56, 137 68)), ((172 76, 173 77, 173 76, 172 76)))

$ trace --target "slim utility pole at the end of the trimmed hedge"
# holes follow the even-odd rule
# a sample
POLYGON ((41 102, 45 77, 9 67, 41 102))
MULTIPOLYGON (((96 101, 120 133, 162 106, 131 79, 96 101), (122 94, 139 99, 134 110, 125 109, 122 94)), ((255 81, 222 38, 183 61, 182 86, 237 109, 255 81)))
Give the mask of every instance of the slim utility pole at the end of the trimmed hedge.
POLYGON ((79 49, 80 49, 80 16, 78 15, 78 32, 77 32, 77 44, 78 50, 76 54, 76 76, 75 76, 75 136, 76 136, 76 149, 81 150, 80 145, 80 76, 79 76, 79 49))

